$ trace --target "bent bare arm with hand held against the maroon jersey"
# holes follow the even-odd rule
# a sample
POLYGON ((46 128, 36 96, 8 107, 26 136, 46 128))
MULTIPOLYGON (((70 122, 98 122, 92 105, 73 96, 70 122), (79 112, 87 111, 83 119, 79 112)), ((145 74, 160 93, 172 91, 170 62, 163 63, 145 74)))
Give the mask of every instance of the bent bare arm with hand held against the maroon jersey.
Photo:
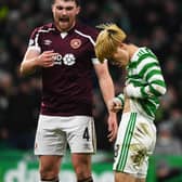
POLYGON ((39 54, 38 51, 28 49, 21 64, 21 75, 25 76, 31 74, 36 70, 37 67, 53 66, 54 56, 56 56, 56 53, 53 51, 44 51, 39 54))

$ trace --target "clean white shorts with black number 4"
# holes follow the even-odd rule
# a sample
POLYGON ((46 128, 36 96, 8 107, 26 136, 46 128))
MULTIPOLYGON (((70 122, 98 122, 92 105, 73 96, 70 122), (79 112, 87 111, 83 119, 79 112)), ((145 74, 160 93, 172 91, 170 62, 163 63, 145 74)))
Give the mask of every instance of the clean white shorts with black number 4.
POLYGON ((35 155, 64 155, 67 143, 72 153, 95 153, 95 129, 90 116, 39 116, 35 155))

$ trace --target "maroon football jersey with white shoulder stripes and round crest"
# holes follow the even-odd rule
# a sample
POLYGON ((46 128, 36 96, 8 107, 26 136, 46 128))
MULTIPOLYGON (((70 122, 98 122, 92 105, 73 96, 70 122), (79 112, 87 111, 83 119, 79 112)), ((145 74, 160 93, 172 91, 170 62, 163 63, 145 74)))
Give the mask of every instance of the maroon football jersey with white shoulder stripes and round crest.
POLYGON ((54 66, 42 68, 41 114, 51 116, 92 115, 92 74, 98 30, 77 23, 67 32, 54 24, 36 28, 28 49, 54 50, 54 66))

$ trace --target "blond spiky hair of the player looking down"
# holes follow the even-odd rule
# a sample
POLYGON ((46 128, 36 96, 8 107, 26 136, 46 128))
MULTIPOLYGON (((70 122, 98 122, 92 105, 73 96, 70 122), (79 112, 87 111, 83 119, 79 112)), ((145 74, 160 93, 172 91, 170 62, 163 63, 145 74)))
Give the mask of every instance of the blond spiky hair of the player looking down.
POLYGON ((126 39, 127 35, 116 24, 102 24, 98 28, 103 30, 96 38, 94 49, 96 57, 103 63, 105 58, 112 58, 117 46, 126 39))

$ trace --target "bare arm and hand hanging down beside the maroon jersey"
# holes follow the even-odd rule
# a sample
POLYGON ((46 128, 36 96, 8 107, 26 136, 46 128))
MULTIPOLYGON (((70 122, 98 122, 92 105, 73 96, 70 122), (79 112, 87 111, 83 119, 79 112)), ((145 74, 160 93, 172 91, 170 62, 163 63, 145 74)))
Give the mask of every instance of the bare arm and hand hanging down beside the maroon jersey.
POLYGON ((98 75, 100 88, 102 91, 102 95, 104 99, 104 102, 107 106, 107 110, 109 114, 108 117, 108 139, 109 141, 114 141, 117 134, 117 119, 116 114, 109 110, 108 102, 115 96, 115 90, 112 77, 108 72, 107 62, 103 64, 94 64, 95 73, 98 75))

